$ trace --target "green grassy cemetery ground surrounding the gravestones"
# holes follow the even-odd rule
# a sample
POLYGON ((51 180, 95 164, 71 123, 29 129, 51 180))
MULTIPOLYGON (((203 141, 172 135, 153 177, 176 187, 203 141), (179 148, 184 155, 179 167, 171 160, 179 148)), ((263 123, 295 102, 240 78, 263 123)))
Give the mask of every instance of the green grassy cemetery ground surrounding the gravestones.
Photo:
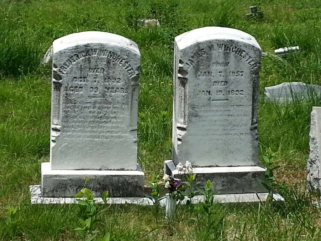
MULTIPOLYGON (((73 229, 75 205, 30 205, 29 185, 40 183, 40 163, 48 161, 50 69, 39 66, 56 38, 77 31, 109 31, 134 40, 142 55, 138 162, 146 174, 161 174, 171 157, 173 38, 202 26, 237 28, 253 35, 263 51, 300 46, 286 59, 264 57, 260 72, 260 159, 277 152, 274 165, 283 204, 214 204, 211 227, 195 223, 186 207, 174 221, 161 210, 135 205, 99 206, 97 229, 111 240, 320 240, 321 211, 305 190, 311 98, 290 104, 264 100, 264 87, 288 81, 320 84, 321 3, 319 0, 0 0, 0 239, 10 240, 7 206, 17 207, 16 240, 80 240, 73 229), (262 20, 247 21, 258 5, 262 20), (157 29, 135 26, 157 18, 157 29), (152 84, 152 85, 151 85, 152 84)), ((214 183, 215 185, 215 183, 214 183)))

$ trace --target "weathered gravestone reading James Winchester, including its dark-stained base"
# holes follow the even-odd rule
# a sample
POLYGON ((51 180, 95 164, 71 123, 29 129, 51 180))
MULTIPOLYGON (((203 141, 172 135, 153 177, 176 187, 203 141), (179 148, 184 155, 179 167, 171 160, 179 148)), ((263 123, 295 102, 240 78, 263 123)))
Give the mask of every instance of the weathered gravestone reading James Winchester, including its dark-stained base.
MULTIPOLYGON (((261 48, 249 34, 204 27, 175 38, 173 160, 220 193, 266 192, 259 167, 257 98, 261 48)), ((202 183, 204 184, 204 183, 202 183)))

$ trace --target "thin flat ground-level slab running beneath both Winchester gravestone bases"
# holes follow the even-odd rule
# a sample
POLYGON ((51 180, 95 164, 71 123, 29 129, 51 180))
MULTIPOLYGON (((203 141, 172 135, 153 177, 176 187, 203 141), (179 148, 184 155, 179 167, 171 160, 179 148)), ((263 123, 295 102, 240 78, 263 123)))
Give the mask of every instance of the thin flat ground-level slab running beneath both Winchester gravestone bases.
MULTIPOLYGON (((77 203, 76 198, 52 198, 52 197, 42 197, 40 185, 30 185, 31 193, 31 204, 75 204, 77 203)), ((214 200, 221 203, 235 203, 235 202, 259 202, 265 201, 268 193, 241 193, 241 194, 217 194, 214 195, 214 200)), ((82 199, 82 198, 79 198, 82 199)), ((103 203, 101 198, 95 198, 98 203, 103 203)), ((274 201, 284 201, 280 194, 273 193, 274 201)), ((192 203, 198 203, 204 201, 203 195, 195 196, 192 199, 192 203)), ((143 206, 153 205, 152 201, 148 198, 143 197, 127 197, 127 198, 109 198, 109 204, 137 204, 143 206)), ((186 200, 182 202, 185 204, 186 200)), ((165 207, 165 199, 160 201, 160 205, 165 207)))

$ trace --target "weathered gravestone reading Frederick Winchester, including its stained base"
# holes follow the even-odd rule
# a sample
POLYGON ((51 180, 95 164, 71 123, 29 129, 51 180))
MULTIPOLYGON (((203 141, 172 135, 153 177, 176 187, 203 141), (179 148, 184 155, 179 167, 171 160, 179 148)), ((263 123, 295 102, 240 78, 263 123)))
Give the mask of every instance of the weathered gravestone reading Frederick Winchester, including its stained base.
POLYGON ((142 196, 137 164, 140 52, 122 36, 88 31, 53 42, 50 163, 42 163, 44 197, 142 196))

